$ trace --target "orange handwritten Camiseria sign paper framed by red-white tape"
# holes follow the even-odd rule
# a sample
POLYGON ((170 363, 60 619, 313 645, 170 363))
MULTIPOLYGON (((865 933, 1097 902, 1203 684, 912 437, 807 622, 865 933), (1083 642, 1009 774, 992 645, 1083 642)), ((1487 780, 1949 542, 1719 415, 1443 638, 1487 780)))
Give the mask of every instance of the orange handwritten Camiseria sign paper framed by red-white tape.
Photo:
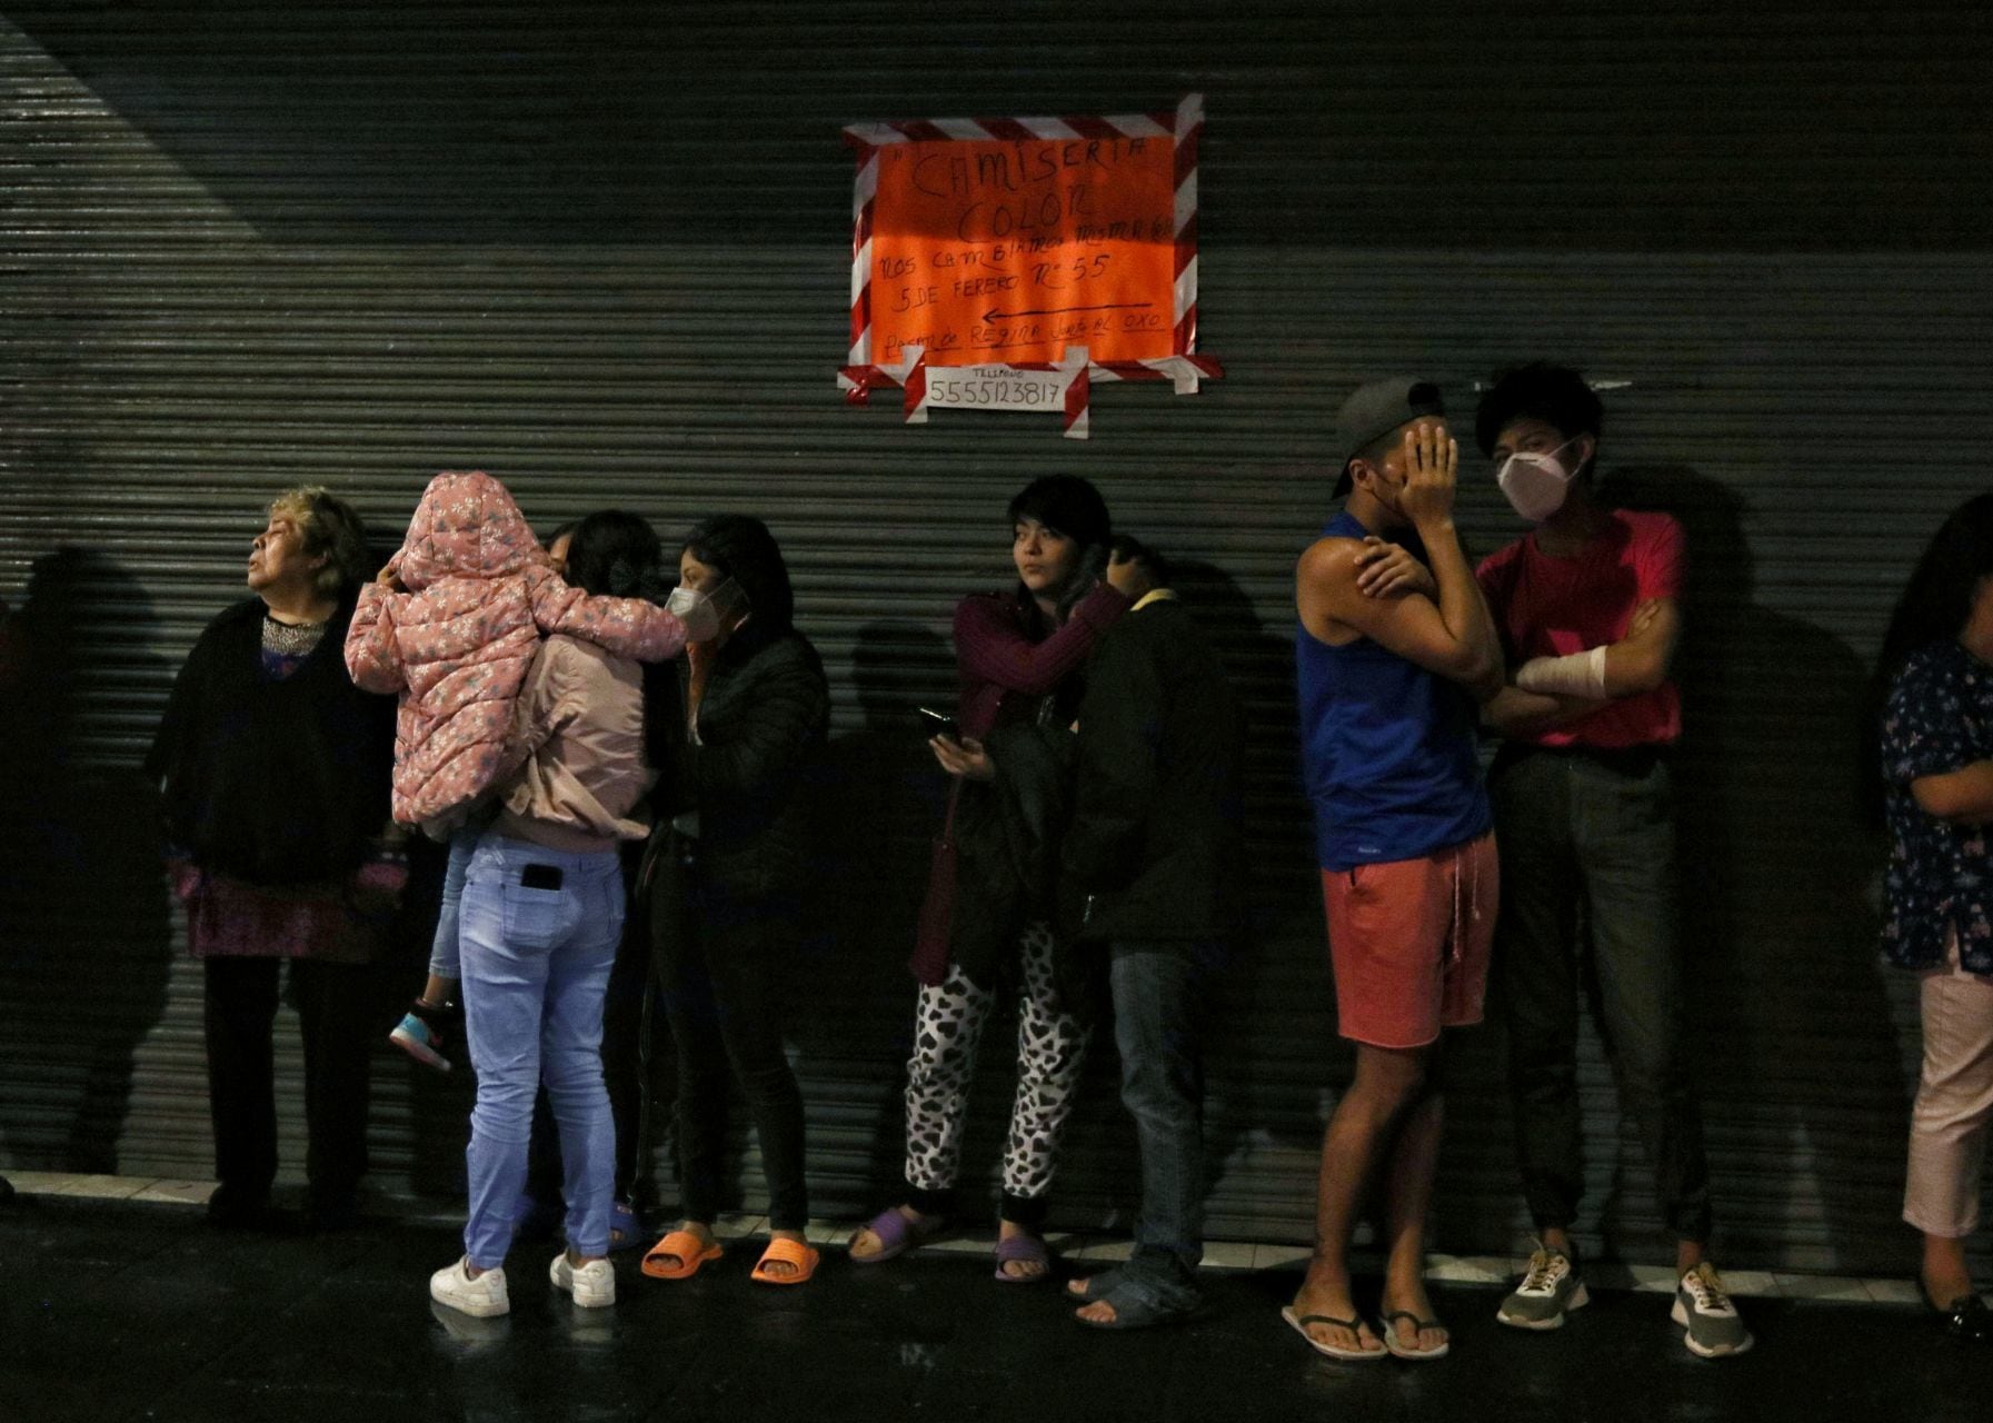
POLYGON ((1174 355, 1176 142, 931 140, 879 151, 871 359, 1174 355))

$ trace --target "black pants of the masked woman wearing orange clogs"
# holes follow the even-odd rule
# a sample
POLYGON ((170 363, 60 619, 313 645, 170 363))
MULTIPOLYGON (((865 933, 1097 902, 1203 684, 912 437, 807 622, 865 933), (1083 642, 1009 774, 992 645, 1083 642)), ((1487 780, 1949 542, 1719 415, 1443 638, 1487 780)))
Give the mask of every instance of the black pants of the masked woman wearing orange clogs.
POLYGON ((767 1220, 801 1230, 803 1092, 781 1046, 781 987, 797 941, 793 907, 713 891, 684 843, 666 847, 652 891, 658 1000, 678 1046, 678 1188, 686 1220, 712 1222, 725 1194, 727 1074, 761 1142, 767 1220))

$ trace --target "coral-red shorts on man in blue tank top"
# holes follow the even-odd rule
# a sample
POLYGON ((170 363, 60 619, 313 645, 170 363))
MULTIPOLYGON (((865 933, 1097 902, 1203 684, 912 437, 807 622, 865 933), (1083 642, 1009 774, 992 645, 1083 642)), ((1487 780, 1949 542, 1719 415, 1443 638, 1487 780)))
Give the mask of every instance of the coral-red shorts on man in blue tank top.
POLYGON ((1481 1022, 1495 943, 1495 831, 1453 849, 1321 871, 1345 1038, 1423 1048, 1481 1022))

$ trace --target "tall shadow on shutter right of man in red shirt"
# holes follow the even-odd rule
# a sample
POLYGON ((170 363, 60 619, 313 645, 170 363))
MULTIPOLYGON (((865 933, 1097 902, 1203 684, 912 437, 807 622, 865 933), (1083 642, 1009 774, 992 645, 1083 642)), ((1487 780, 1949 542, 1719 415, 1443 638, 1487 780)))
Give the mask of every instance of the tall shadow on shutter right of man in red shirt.
MULTIPOLYGON (((1672 514, 1688 546, 1674 767, 1684 1046, 1726 1258, 1895 1270, 1903 1136, 1875 1124, 1907 1122, 1907 1096, 1869 895, 1867 670, 1814 622, 1754 602, 1736 490, 1664 466, 1620 470, 1600 494, 1672 514)), ((1632 1136, 1622 1114, 1620 1140, 1632 1136)), ((1642 1164, 1614 1196, 1648 1180, 1642 1164)), ((1624 1228, 1616 1206, 1608 1238, 1624 1228)))

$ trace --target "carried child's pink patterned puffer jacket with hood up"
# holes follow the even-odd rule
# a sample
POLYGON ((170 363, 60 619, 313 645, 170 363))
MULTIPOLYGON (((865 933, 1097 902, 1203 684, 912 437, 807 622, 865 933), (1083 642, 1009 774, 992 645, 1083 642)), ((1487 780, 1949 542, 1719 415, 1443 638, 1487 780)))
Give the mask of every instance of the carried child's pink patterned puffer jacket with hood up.
POLYGON ((490 789, 542 632, 638 662, 686 646, 686 624, 664 608, 564 584, 506 486, 476 470, 428 482, 389 568, 407 592, 361 590, 347 672, 367 692, 403 694, 393 801, 403 825, 448 817, 490 789))

